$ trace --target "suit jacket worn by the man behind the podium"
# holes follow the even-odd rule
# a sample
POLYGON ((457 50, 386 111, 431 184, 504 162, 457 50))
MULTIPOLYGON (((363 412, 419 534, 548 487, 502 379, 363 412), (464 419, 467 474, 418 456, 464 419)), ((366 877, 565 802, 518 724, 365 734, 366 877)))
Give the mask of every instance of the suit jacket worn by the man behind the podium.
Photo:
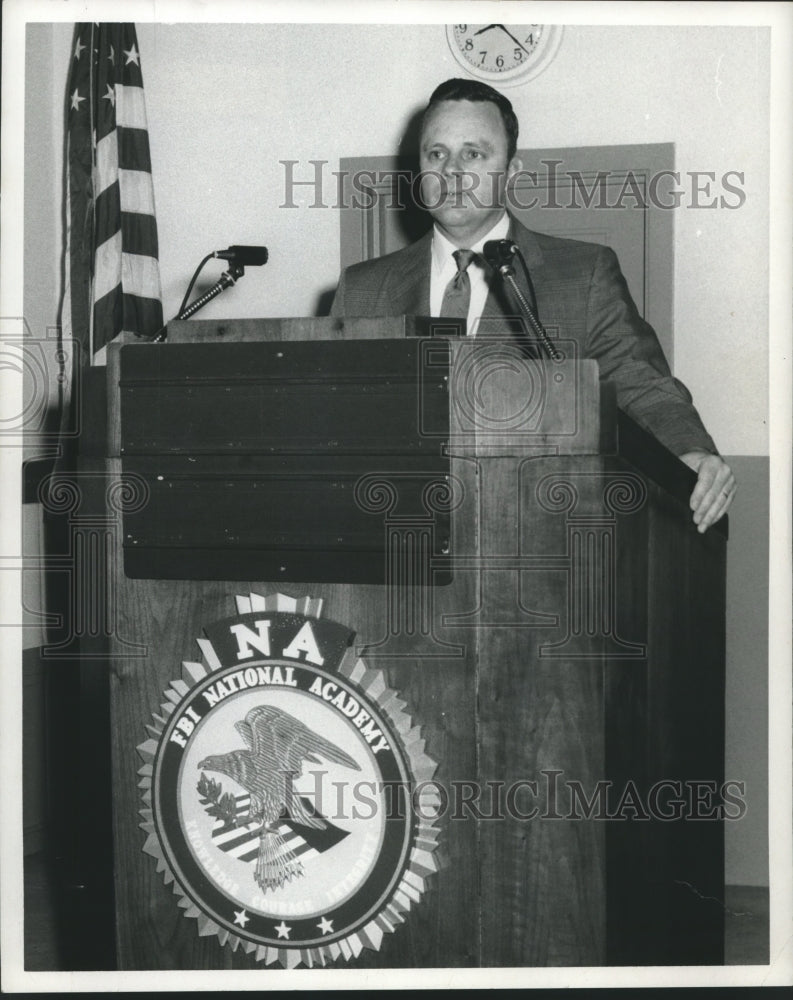
MULTIPOLYGON (((509 235, 526 258, 549 335, 575 340, 579 357, 596 359, 601 378, 616 385, 619 406, 670 451, 715 453, 691 394, 672 376, 654 330, 634 305, 614 251, 545 236, 516 219, 509 235)), ((331 314, 429 316, 431 245, 432 231, 403 250, 348 267, 331 314)), ((499 286, 491 284, 479 336, 516 329, 517 310, 499 286)))

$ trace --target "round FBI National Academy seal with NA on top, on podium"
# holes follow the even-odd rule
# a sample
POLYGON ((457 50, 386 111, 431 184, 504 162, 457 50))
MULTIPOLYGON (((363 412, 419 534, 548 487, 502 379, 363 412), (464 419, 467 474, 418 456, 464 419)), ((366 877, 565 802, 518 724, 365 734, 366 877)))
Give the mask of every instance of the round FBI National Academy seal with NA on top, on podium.
POLYGON ((289 968, 349 960, 436 870, 436 765, 321 601, 236 600, 138 747, 143 850, 199 934, 289 968))

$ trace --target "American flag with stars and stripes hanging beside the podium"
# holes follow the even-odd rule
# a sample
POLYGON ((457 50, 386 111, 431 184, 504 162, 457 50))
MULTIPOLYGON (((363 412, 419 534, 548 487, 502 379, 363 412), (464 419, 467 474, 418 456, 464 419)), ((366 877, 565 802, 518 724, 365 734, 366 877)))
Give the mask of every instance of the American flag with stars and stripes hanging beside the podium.
POLYGON ((93 362, 162 327, 157 222, 134 24, 76 24, 70 62, 61 326, 93 362))

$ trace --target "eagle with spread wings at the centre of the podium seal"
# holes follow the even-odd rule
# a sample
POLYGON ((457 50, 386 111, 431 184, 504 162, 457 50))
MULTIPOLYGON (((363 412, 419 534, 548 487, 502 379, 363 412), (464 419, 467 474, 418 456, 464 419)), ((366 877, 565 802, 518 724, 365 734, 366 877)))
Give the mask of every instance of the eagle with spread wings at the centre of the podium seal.
MULTIPOLYGON (((286 813, 293 821, 324 830, 327 823, 308 811, 292 781, 307 762, 321 758, 360 771, 349 754, 319 736, 288 712, 272 705, 257 705, 244 719, 234 723, 247 749, 211 754, 200 770, 227 775, 250 796, 246 821, 260 821, 259 850, 254 878, 263 892, 277 889, 303 874, 303 865, 279 830, 286 813)), ((238 824, 238 820, 234 820, 238 824)))

